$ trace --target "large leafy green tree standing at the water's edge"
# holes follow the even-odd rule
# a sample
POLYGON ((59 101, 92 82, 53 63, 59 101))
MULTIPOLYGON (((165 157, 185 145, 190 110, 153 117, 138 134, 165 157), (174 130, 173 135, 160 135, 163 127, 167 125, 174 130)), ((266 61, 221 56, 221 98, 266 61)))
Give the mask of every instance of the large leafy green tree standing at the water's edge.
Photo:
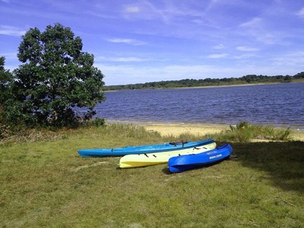
POLYGON ((76 111, 83 107, 82 117, 96 114, 94 107, 105 100, 103 74, 70 28, 56 23, 42 32, 29 29, 18 50, 23 64, 14 71, 13 96, 27 125, 63 127, 77 122, 81 116, 76 111))

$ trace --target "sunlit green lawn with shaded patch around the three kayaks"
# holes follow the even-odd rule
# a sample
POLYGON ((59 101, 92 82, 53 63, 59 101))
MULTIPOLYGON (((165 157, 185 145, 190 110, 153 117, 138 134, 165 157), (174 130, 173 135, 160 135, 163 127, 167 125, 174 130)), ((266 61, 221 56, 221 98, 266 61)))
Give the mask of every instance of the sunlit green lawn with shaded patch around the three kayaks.
POLYGON ((141 127, 114 124, 3 143, 0 226, 304 226, 301 141, 216 141, 230 142, 235 157, 173 174, 166 164, 118 169, 120 157, 83 159, 77 153, 180 139, 195 137, 161 138, 141 127))

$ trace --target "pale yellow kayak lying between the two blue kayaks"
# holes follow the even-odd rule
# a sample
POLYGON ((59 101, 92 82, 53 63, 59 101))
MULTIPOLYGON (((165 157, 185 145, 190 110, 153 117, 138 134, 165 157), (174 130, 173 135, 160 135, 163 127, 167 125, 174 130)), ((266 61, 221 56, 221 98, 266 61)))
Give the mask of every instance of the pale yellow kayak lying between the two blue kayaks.
POLYGON ((120 159, 120 168, 135 168, 140 166, 152 166, 154 164, 163 164, 168 162, 171 157, 205 152, 215 149, 216 143, 210 143, 203 146, 188 148, 184 150, 173 150, 169 152, 157 152, 150 154, 125 155, 120 159))

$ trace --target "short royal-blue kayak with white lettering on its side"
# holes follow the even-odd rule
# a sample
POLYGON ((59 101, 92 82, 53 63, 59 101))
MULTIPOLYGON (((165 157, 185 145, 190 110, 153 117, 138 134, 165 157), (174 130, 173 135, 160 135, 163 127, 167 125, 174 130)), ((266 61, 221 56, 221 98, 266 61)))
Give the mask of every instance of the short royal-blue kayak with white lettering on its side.
POLYGON ((207 152, 171 157, 168 160, 168 168, 171 173, 200 168, 201 166, 220 162, 228 158, 232 151, 233 149, 231 145, 227 143, 219 148, 215 148, 214 150, 209 150, 207 152))

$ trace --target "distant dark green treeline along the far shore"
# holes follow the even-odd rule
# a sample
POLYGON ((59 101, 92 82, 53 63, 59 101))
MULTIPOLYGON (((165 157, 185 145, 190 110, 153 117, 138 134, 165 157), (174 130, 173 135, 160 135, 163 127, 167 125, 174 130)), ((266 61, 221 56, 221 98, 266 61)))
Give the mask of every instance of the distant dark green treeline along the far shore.
POLYGON ((166 80, 154 83, 137 83, 129 85, 108 85, 103 90, 140 90, 140 89, 166 89, 179 87, 203 87, 220 85, 246 85, 259 83, 291 83, 293 81, 304 81, 304 72, 294 76, 256 76, 247 75, 241 78, 205 78, 205 79, 182 79, 166 80))

